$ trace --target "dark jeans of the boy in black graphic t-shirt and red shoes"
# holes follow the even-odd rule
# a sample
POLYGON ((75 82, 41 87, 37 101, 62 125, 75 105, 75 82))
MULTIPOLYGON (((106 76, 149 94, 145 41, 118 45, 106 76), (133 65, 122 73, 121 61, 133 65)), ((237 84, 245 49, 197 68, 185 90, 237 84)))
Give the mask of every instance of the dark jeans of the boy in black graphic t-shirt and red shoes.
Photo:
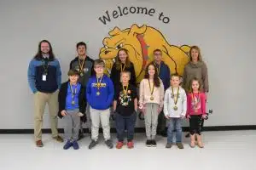
POLYGON ((125 127, 127 130, 128 142, 130 142, 133 139, 136 119, 137 119, 136 113, 133 113, 131 116, 121 116, 119 113, 115 114, 115 126, 117 131, 117 138, 119 142, 124 142, 125 127))

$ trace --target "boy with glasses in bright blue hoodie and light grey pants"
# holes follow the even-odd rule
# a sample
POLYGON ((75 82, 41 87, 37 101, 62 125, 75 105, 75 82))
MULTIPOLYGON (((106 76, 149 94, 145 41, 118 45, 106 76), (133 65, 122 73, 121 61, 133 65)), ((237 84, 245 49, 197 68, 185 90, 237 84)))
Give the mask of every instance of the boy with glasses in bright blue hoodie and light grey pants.
POLYGON ((108 148, 113 148, 113 143, 110 139, 110 105, 113 102, 113 82, 104 74, 105 64, 102 59, 96 59, 94 70, 96 75, 90 77, 86 86, 86 97, 90 105, 91 119, 91 142, 89 149, 92 149, 98 143, 99 126, 102 122, 103 135, 105 144, 108 148))

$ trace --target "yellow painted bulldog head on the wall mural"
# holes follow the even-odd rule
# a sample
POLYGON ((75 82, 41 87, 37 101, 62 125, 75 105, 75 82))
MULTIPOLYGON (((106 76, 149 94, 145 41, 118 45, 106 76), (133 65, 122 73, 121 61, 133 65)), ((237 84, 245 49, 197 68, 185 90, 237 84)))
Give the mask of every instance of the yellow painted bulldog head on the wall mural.
POLYGON ((147 26, 138 27, 137 25, 133 25, 131 29, 121 31, 118 27, 114 27, 112 31, 108 32, 110 37, 103 39, 104 47, 100 51, 100 58, 104 60, 108 74, 110 74, 119 48, 125 48, 128 51, 129 59, 135 64, 135 72, 138 77, 143 70, 143 52, 137 36, 145 32, 146 29, 147 26))

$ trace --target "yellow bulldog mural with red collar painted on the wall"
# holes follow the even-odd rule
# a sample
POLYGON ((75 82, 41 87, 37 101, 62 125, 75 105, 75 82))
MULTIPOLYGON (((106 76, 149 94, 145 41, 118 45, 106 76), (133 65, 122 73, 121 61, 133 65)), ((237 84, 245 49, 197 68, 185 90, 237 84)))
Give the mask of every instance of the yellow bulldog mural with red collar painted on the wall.
POLYGON ((103 39, 104 47, 100 51, 100 58, 106 64, 108 75, 111 73, 119 48, 125 48, 134 64, 137 83, 140 82, 144 77, 145 67, 154 60, 154 49, 159 48, 162 51, 162 59, 171 72, 183 76, 184 65, 189 62, 189 46, 170 45, 160 31, 145 25, 139 27, 134 24, 123 31, 115 27, 108 34, 110 37, 103 39))

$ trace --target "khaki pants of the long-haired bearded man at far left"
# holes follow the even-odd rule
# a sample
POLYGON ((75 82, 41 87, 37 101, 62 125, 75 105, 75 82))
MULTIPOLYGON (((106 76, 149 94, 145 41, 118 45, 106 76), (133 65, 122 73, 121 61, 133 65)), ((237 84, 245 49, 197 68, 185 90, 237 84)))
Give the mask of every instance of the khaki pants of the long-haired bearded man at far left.
POLYGON ((58 135, 58 93, 59 90, 55 91, 55 93, 52 94, 44 94, 42 92, 37 92, 36 94, 34 94, 34 135, 36 141, 42 140, 43 116, 46 103, 49 106, 52 136, 55 137, 58 135))

